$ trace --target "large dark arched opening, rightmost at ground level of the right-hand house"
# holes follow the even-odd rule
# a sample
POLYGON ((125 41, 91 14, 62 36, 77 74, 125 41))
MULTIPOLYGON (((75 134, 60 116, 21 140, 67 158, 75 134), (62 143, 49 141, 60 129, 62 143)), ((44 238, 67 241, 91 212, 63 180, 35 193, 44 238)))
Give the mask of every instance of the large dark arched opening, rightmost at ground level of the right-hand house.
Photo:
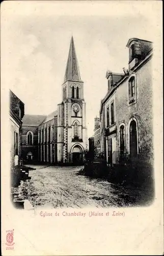
POLYGON ((130 157, 135 157, 138 154, 136 122, 132 120, 129 127, 129 146, 130 157))

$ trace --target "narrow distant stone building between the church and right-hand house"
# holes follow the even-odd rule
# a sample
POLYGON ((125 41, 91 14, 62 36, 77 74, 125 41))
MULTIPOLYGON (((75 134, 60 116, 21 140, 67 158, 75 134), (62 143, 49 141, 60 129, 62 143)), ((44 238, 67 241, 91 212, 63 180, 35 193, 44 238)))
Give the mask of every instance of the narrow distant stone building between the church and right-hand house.
POLYGON ((95 155, 99 156, 101 152, 100 148, 100 118, 95 117, 94 124, 94 146, 95 146, 95 155))

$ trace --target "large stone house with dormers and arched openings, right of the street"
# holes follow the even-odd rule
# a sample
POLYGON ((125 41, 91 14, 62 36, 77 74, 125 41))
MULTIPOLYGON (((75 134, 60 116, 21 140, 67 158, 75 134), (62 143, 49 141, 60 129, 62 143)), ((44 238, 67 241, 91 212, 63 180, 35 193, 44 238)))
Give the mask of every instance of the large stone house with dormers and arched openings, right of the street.
POLYGON ((129 67, 106 72, 107 94, 101 100, 101 152, 107 164, 121 156, 153 164, 152 42, 128 40, 129 67))

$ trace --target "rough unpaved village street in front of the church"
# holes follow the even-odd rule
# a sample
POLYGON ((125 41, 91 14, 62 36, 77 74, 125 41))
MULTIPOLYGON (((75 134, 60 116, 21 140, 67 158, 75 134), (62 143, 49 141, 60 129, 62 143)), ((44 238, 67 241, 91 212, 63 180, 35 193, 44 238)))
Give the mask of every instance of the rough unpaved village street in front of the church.
POLYGON ((33 167, 36 170, 29 172, 32 178, 21 184, 21 191, 34 207, 126 207, 142 201, 136 189, 78 175, 83 166, 33 167))

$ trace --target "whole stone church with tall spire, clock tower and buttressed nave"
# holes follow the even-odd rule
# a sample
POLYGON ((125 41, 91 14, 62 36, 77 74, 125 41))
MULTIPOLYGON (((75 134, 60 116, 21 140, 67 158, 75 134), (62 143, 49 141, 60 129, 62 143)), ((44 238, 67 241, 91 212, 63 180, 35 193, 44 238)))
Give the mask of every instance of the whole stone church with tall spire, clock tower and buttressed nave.
POLYGON ((73 37, 57 110, 48 116, 24 115, 21 134, 24 161, 75 164, 84 161, 88 146, 86 102, 73 37))

